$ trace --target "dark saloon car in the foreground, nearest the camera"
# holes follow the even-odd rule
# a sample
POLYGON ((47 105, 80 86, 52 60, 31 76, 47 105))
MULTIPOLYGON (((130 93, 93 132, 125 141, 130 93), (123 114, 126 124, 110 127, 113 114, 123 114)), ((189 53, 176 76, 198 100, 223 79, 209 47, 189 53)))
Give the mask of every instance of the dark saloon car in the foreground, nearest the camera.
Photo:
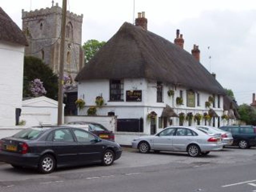
POLYGON ((0 140, 0 161, 42 173, 62 166, 111 165, 121 154, 117 143, 68 126, 32 127, 0 140))

